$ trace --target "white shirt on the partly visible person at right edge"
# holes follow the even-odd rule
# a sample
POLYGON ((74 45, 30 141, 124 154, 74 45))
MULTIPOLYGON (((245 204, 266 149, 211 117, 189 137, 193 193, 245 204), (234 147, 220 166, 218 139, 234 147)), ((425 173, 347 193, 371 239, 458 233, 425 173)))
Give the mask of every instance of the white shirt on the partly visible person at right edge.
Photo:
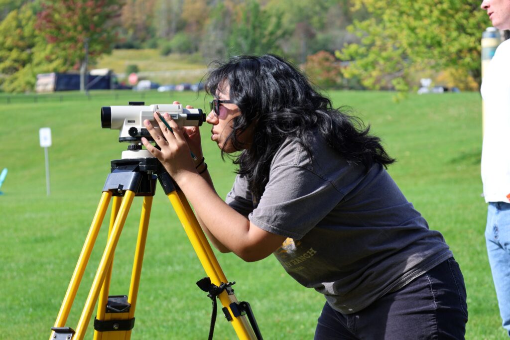
POLYGON ((481 178, 486 202, 510 202, 510 40, 496 49, 481 85, 481 178))

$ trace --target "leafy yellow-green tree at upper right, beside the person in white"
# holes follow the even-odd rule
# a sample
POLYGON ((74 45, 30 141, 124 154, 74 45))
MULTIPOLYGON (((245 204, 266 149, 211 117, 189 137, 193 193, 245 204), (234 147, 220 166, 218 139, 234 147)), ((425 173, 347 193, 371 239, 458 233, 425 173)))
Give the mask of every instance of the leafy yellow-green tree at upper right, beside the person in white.
POLYGON ((478 2, 359 0, 353 10, 369 17, 350 27, 361 43, 337 53, 352 61, 347 77, 358 76, 371 89, 405 91, 418 85, 420 71, 455 67, 479 81, 480 37, 488 22, 478 2))

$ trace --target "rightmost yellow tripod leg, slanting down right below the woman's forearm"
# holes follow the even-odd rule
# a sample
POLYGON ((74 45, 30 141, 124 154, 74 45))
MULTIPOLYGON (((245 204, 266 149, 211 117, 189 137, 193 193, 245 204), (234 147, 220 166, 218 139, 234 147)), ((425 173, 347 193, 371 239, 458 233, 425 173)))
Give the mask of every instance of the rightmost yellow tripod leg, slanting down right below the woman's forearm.
MULTIPOLYGON (((214 255, 211 246, 207 242, 206 236, 203 234, 195 215, 193 214, 188 200, 180 191, 174 190, 167 194, 170 203, 172 204, 177 217, 181 221, 186 234, 195 250, 203 269, 206 274, 211 278, 211 282, 220 285, 222 282, 227 283, 225 274, 220 268, 218 260, 214 255)), ((223 307, 228 309, 232 318, 232 326, 240 339, 256 339, 257 336, 249 326, 248 321, 244 315, 236 316, 230 307, 232 303, 237 303, 237 298, 234 292, 227 292, 224 290, 219 295, 219 299, 223 307)))

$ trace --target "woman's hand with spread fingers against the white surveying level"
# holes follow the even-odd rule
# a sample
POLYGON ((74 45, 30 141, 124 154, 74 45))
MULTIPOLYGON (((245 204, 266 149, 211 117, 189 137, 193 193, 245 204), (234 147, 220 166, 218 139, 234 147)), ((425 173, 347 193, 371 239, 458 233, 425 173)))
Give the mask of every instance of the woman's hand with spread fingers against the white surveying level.
MULTIPOLYGON (((160 127, 159 130, 155 129, 148 119, 143 123, 150 136, 152 136, 161 150, 158 150, 154 145, 150 144, 146 138, 142 138, 142 143, 145 148, 163 164, 170 176, 179 183, 187 173, 197 172, 193 159, 191 158, 190 147, 187 143, 187 139, 190 139, 190 136, 185 137, 187 133, 177 125, 168 113, 164 113, 163 118, 171 127, 172 131, 166 127, 158 113, 154 113, 154 118, 160 127)), ((196 141, 196 137, 194 140, 196 141)), ((198 142, 199 141, 198 134, 198 142)), ((200 159, 198 161, 200 161, 200 159)))

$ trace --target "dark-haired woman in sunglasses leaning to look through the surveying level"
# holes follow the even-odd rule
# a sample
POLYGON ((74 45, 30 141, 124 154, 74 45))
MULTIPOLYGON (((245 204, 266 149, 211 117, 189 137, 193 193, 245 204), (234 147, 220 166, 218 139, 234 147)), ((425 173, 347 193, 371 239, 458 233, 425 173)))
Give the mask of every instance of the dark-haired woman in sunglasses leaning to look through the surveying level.
POLYGON ((239 151, 225 202, 197 128, 181 130, 164 114, 172 134, 155 115, 161 130, 145 125, 161 150, 143 144, 220 251, 246 261, 273 253, 324 294, 316 339, 464 338, 462 273, 386 172, 394 160, 368 128, 276 56, 235 57, 209 74, 206 90, 215 98, 211 139, 222 154, 239 151))

